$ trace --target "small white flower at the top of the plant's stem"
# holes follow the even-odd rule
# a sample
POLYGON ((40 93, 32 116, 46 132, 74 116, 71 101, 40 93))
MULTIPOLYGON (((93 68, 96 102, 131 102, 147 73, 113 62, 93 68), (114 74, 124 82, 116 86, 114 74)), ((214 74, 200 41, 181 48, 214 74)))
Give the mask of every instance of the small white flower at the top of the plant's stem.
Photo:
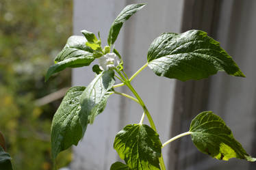
POLYGON ((99 58, 99 68, 104 71, 115 68, 119 63, 120 59, 115 53, 107 53, 99 58))

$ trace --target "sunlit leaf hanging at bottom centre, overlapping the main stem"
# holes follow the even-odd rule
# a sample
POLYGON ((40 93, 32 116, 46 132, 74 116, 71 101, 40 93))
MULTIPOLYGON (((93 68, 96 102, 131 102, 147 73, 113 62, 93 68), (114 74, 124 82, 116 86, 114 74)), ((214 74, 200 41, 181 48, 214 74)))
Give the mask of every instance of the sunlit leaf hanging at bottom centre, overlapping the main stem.
POLYGON ((116 134, 114 149, 130 169, 160 169, 162 144, 155 130, 145 124, 125 126, 116 134))

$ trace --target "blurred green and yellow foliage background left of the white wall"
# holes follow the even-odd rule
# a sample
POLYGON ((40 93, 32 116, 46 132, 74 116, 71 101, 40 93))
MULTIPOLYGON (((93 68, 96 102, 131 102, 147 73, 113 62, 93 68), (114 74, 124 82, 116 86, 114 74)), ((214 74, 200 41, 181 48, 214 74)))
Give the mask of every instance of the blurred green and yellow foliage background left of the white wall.
MULTIPOLYGON (((53 58, 72 34, 73 1, 0 1, 0 131, 14 169, 53 169, 51 119, 60 100, 43 107, 34 101, 70 86, 70 70, 44 83, 53 58)), ((57 167, 71 160, 60 154, 57 167)))

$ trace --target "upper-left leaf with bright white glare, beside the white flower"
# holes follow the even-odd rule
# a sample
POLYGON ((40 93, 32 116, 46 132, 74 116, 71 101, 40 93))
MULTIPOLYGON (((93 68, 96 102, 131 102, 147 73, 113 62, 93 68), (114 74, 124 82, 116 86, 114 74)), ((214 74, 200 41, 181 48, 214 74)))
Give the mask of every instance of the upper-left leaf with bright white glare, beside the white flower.
POLYGON ((86 46, 86 38, 83 36, 71 36, 68 38, 66 46, 55 58, 55 65, 51 66, 45 76, 47 81, 50 76, 60 72, 65 68, 77 68, 88 66, 94 60, 93 51, 86 46))

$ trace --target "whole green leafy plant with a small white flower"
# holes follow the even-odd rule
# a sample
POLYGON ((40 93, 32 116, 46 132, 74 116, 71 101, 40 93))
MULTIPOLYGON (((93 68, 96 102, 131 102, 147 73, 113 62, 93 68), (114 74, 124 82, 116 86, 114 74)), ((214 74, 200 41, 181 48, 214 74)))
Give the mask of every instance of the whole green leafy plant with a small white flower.
POLYGON ((218 71, 225 71, 232 76, 244 77, 244 74, 216 40, 203 31, 190 30, 180 34, 163 33, 156 38, 149 47, 146 64, 128 78, 123 68, 122 57, 114 48, 114 42, 125 20, 143 7, 144 4, 131 4, 120 12, 110 28, 108 46, 104 48, 101 47, 100 36, 98 39, 89 31, 81 31, 84 36, 71 36, 55 58, 55 65, 49 68, 46 80, 65 68, 88 66, 94 59, 99 59, 99 65, 94 65, 92 68, 97 76, 87 87, 71 87, 53 117, 51 126, 53 159, 71 145, 77 145, 84 136, 88 124, 92 124, 94 117, 104 110, 107 98, 112 94, 118 94, 138 102, 144 113, 139 124, 129 124, 116 135, 114 149, 126 164, 115 162, 110 167, 112 170, 164 170, 166 168, 162 158, 162 148, 185 135, 192 137, 199 151, 218 160, 240 158, 255 161, 256 158, 246 153, 242 145, 233 138, 225 122, 212 111, 199 113, 192 120, 188 132, 179 134, 163 144, 159 140, 151 114, 131 85, 131 81, 146 66, 149 66, 157 76, 180 81, 204 79, 218 71), (115 85, 115 78, 122 83, 115 85), (131 90, 134 97, 116 91, 116 87, 123 85, 131 90), (149 119, 150 126, 143 124, 145 116, 149 119))

